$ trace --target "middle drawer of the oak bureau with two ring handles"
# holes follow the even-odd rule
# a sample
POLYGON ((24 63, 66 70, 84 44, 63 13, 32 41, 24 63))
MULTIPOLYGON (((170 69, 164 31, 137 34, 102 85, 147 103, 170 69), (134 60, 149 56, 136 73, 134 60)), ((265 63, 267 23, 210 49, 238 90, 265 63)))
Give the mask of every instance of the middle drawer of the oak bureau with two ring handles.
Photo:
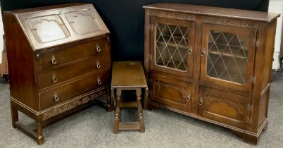
POLYGON ((110 54, 103 54, 91 56, 84 61, 69 66, 55 68, 47 72, 39 72, 37 77, 39 90, 87 73, 100 73, 103 70, 110 69, 110 65, 110 54))

